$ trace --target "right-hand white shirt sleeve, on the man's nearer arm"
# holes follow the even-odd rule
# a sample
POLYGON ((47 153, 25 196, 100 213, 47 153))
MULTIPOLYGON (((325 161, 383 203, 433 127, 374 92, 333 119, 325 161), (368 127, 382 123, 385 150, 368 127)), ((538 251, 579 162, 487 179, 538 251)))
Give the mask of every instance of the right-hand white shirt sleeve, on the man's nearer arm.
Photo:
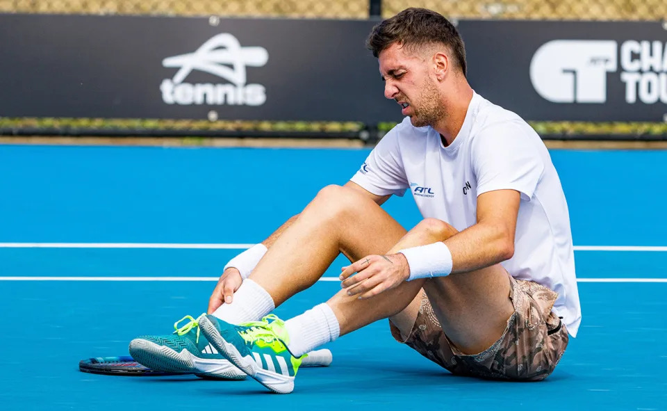
POLYGON ((532 198, 544 171, 539 147, 543 143, 527 127, 499 124, 475 136, 471 153, 477 195, 494 190, 516 190, 522 200, 532 198))

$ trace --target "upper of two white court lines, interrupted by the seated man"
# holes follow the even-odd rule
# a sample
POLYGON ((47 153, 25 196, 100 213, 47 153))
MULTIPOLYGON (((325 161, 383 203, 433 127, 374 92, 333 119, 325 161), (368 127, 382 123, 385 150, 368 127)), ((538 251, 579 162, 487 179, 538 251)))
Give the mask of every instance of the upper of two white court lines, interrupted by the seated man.
MULTIPOLYGON (((158 248, 198 250, 245 250, 254 244, 206 243, 0 243, 0 248, 158 248)), ((661 251, 667 246, 653 245, 575 245, 575 251, 661 251)))

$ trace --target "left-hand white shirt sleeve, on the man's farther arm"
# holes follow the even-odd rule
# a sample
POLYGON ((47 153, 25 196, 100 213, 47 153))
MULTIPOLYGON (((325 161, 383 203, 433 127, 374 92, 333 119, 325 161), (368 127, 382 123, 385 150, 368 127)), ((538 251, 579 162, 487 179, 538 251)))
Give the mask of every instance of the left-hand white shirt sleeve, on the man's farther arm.
POLYGON ((375 195, 402 197, 409 187, 400 153, 398 124, 370 152, 359 171, 350 179, 375 195))

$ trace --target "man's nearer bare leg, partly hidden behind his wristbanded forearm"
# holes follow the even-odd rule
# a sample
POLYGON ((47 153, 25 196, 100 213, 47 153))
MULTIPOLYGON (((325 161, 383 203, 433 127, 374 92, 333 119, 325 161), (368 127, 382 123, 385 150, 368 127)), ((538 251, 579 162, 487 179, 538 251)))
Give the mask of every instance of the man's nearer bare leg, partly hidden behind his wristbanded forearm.
MULTIPOLYGON (((444 241, 456 229, 440 220, 427 219, 408 232, 388 254, 415 245, 444 241)), ((513 313, 507 272, 496 264, 470 273, 404 282, 367 300, 347 296, 342 290, 327 304, 340 324, 340 335, 379 319, 390 321, 407 336, 415 323, 423 287, 447 337, 463 353, 480 353, 498 338, 513 313), (406 296, 412 296, 406 301, 406 296), (405 307, 405 309, 402 309, 405 307)))

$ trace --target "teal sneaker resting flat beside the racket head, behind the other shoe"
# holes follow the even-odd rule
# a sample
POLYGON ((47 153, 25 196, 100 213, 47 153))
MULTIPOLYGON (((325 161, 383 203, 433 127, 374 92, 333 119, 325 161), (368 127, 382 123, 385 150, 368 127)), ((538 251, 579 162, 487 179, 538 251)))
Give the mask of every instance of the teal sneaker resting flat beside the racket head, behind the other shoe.
POLYGON ((199 332, 199 323, 184 316, 172 335, 145 335, 130 342, 130 355, 156 371, 193 373, 201 378, 243 380, 246 373, 217 352, 199 332), (179 327, 179 324, 188 323, 179 327))

